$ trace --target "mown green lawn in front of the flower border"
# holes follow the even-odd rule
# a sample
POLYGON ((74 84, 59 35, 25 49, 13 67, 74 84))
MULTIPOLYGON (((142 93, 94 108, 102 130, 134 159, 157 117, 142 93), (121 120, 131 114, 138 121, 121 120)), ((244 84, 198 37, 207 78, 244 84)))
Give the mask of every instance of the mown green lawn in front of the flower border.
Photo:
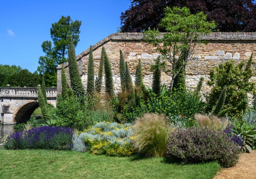
POLYGON ((213 178, 216 162, 180 165, 165 158, 108 157, 75 151, 1 150, 0 178, 213 178))

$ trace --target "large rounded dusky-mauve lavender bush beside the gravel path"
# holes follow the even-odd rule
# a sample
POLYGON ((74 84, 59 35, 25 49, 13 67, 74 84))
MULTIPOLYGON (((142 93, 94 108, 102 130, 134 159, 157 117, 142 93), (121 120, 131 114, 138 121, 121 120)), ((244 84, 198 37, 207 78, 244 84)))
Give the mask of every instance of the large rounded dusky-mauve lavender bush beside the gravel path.
POLYGON ((167 156, 184 163, 218 161, 221 167, 234 166, 241 152, 225 132, 202 126, 177 128, 170 134, 167 148, 167 156))

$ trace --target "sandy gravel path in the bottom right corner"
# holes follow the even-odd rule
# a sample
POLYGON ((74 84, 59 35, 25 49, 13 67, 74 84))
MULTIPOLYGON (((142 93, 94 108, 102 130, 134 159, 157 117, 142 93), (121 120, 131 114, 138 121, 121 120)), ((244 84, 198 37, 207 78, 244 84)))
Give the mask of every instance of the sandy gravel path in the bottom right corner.
POLYGON ((213 179, 256 179, 256 151, 243 153, 231 168, 222 168, 213 179))

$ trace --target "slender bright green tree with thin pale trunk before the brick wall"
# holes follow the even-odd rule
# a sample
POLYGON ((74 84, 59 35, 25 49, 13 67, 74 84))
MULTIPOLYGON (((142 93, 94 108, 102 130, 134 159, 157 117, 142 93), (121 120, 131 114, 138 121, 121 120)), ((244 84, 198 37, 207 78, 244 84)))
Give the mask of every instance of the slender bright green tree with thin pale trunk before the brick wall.
POLYGON ((176 76, 189 60, 196 59, 194 55, 197 53, 200 39, 215 28, 215 23, 207 22, 203 12, 192 15, 186 7, 182 9, 166 7, 164 14, 159 24, 167 31, 163 37, 160 37, 158 29, 149 29, 143 32, 143 38, 162 54, 163 58, 159 66, 165 74, 171 76, 170 90, 172 90, 176 76), (177 58, 179 56, 180 58, 177 58), (181 64, 177 68, 179 61, 181 64))

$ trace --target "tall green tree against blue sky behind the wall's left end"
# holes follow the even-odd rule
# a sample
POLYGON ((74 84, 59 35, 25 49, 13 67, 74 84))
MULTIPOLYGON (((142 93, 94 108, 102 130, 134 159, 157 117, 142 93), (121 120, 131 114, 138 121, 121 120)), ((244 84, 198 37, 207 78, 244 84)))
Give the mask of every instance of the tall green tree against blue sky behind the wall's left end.
POLYGON ((57 85, 56 67, 58 64, 67 62, 65 55, 68 52, 68 35, 73 38, 73 44, 76 47, 79 40, 81 21, 71 20, 70 16, 61 16, 58 22, 52 24, 50 29, 51 41, 44 41, 41 45, 45 56, 39 57, 39 66, 37 70, 44 74, 46 86, 57 85))

